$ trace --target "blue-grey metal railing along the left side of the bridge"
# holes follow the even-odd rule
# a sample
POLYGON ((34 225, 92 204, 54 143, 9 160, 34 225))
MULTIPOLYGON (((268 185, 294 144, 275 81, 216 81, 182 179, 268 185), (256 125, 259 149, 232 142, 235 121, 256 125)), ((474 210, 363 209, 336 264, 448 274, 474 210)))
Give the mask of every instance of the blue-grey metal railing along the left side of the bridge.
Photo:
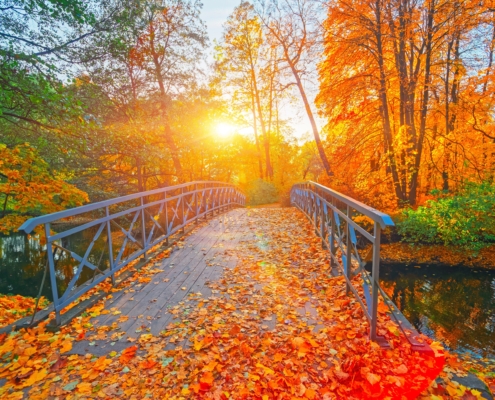
POLYGON ((168 244, 172 235, 201 217, 243 207, 245 202, 234 185, 191 182, 31 218, 19 230, 29 234, 44 225, 53 305, 60 325, 64 307, 109 277, 115 284, 117 271, 141 256, 146 258, 154 246, 168 244), (69 228, 54 233, 54 225, 69 228), (81 235, 86 239, 82 246, 81 235), (57 269, 57 264, 65 266, 57 269))

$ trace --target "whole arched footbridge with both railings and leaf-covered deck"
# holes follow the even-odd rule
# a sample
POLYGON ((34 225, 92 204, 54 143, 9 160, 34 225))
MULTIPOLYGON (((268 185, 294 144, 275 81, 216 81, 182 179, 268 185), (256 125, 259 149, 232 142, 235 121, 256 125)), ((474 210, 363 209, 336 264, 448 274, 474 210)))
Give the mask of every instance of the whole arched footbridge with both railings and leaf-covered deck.
POLYGON ((312 182, 291 202, 246 208, 233 185, 193 182, 27 221, 53 293, 36 322, 55 311, 60 330, 50 346, 34 332, 72 354, 50 371, 73 363, 29 394, 80 375, 101 398, 415 398, 443 357, 380 289, 391 219, 312 182))

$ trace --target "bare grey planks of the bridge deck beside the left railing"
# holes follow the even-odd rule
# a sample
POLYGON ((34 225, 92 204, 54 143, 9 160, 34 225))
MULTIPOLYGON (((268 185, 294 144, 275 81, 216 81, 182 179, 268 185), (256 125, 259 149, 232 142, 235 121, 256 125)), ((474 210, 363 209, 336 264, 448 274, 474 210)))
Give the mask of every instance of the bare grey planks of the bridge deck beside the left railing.
MULTIPOLYGON (((283 213, 283 210, 273 208, 265 212, 283 213)), ((285 210, 291 214, 296 212, 294 209, 285 210)), ((263 231, 266 233, 276 227, 270 226, 270 221, 260 219, 260 211, 235 209, 217 216, 174 246, 168 258, 152 261, 152 272, 159 272, 151 275, 149 282, 147 277, 131 280, 129 286, 113 293, 105 302, 106 311, 91 321, 99 333, 76 342, 72 353, 106 354, 127 347, 129 341, 142 334, 171 335, 170 328, 181 320, 179 317, 187 316, 199 302, 215 298, 218 291, 212 287, 221 279, 224 270, 239 264, 240 254, 250 262, 262 261, 268 246, 263 231), (260 223, 265 226, 260 226, 260 223)), ((297 225, 301 221, 294 219, 293 223, 297 225)), ((278 245, 287 251, 289 243, 285 240, 278 245)), ((260 282, 254 284, 255 290, 264 286, 260 282)), ((297 307, 295 312, 304 319, 308 316, 308 322, 316 326, 317 312, 309 301, 297 307)), ((276 318, 268 319, 263 323, 264 329, 274 329, 276 318)), ((184 342, 177 344, 184 345, 184 342)), ((190 343, 186 340, 185 344, 190 343)), ((172 340, 167 348, 175 345, 172 340)))

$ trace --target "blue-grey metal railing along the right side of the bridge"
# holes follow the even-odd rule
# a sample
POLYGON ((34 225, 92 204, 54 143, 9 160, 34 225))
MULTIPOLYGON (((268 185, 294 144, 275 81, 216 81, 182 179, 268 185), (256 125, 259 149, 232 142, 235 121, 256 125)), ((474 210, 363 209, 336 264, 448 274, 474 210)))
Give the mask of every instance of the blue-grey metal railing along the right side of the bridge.
POLYGON ((322 245, 330 251, 332 268, 338 267, 342 272, 347 291, 353 292, 370 322, 371 340, 377 341, 378 294, 386 296, 379 285, 381 231, 394 225, 392 219, 387 214, 314 182, 294 185, 291 202, 314 224, 316 234, 322 238, 322 245), (371 247, 368 243, 371 243, 371 247), (364 268, 369 258, 361 257, 360 251, 363 250, 372 255, 371 276, 364 268), (358 273, 363 278, 364 302, 351 280, 358 273))

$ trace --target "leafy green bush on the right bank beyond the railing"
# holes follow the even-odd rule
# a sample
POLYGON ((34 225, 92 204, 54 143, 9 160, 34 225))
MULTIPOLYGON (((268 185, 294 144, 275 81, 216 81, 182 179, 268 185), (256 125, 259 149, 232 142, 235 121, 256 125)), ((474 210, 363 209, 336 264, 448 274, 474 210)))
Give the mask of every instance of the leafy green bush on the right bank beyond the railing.
POLYGON ((434 200, 402 212, 397 230, 405 241, 474 251, 495 242, 495 184, 467 183, 453 196, 432 194, 434 200))

